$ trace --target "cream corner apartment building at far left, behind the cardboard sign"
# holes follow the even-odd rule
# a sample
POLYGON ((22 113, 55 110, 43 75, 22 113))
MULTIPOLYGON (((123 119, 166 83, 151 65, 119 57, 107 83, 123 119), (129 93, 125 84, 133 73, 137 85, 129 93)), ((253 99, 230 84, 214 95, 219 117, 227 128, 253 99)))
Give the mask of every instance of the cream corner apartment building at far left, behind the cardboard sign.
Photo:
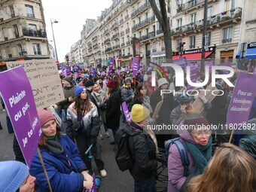
POLYGON ((39 0, 0 1, 0 62, 48 59, 50 50, 39 0))

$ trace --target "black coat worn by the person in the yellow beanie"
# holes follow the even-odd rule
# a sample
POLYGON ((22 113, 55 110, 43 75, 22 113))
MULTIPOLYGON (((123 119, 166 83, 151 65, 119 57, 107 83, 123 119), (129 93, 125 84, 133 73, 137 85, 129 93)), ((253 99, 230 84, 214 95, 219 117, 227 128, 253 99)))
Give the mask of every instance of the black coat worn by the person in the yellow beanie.
POLYGON ((130 174, 134 180, 141 181, 151 178, 157 171, 156 145, 148 134, 143 133, 143 128, 132 123, 126 124, 124 129, 130 133, 129 148, 134 164, 130 174), (136 129, 134 129, 136 128, 136 129))

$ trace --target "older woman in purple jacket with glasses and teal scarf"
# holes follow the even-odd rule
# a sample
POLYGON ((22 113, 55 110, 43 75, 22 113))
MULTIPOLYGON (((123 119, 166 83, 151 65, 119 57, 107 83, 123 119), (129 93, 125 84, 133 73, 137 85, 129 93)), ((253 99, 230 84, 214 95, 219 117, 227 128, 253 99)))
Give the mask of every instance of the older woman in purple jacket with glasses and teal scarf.
POLYGON ((176 145, 169 148, 168 192, 184 191, 187 181, 194 175, 202 174, 212 157, 212 131, 202 128, 209 125, 204 117, 184 120, 177 131, 189 160, 188 176, 184 175, 184 166, 176 145))

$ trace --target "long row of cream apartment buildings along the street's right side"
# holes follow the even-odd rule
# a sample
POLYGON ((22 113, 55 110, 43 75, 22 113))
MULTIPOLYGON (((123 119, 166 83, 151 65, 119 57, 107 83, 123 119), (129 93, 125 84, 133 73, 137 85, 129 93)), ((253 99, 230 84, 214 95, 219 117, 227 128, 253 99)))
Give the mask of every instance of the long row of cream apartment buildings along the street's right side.
MULTIPOLYGON (((173 59, 181 55, 187 59, 201 58, 204 4, 205 0, 166 1, 173 59)), ((222 62, 256 58, 255 5, 253 0, 208 0, 206 58, 222 62)), ((83 61, 89 66, 107 66, 114 56, 117 66, 129 65, 133 58, 133 37, 140 40, 142 62, 146 59, 157 63, 165 61, 163 31, 148 0, 113 0, 110 8, 84 25, 83 61)))

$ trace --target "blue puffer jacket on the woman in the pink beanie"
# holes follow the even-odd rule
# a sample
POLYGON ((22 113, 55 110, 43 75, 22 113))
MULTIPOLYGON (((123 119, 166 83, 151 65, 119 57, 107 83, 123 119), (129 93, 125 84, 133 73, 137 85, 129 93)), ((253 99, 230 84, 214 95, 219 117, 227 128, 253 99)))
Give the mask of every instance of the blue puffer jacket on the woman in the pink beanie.
MULTIPOLYGON (((78 148, 68 136, 60 136, 62 154, 53 154, 47 148, 40 148, 44 166, 53 191, 77 192, 83 190, 84 177, 80 173, 87 169, 78 154, 78 148)), ((50 191, 38 153, 35 154, 30 167, 30 174, 35 176, 38 192, 50 191)))

